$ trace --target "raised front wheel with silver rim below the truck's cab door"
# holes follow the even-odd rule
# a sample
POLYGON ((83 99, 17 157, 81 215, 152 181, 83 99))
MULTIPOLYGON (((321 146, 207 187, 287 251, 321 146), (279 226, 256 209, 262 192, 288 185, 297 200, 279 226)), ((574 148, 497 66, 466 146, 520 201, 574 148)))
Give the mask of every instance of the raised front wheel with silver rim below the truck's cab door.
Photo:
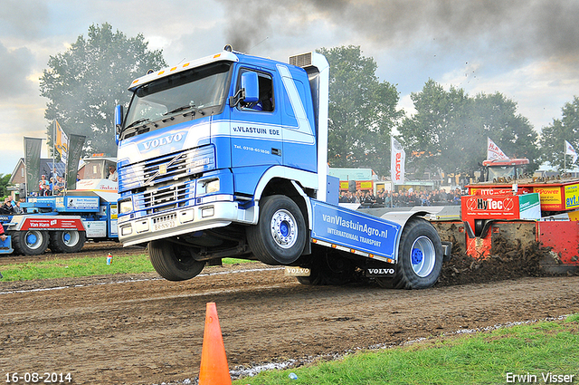
POLYGON ((264 264, 290 265, 304 250, 306 232, 298 205, 289 197, 273 195, 261 199, 260 218, 247 228, 247 242, 264 264))

